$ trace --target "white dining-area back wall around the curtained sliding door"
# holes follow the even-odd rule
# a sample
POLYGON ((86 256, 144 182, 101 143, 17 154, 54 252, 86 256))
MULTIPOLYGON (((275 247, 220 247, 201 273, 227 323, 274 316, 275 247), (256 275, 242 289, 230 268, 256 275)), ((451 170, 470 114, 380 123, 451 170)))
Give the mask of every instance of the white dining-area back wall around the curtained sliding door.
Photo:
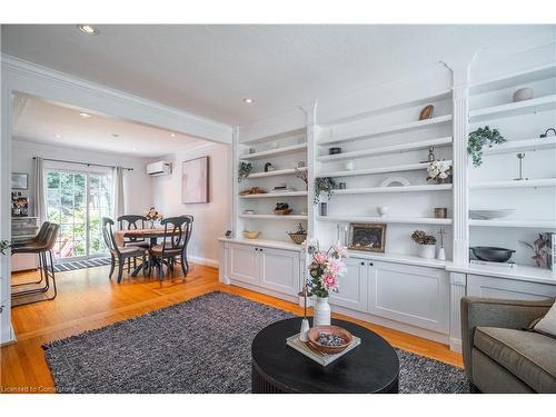
MULTIPOLYGON (((13 172, 29 173, 29 190, 23 195, 32 196, 33 173, 32 158, 42 157, 51 159, 71 160, 78 162, 101 163, 109 166, 122 166, 133 168, 132 171, 125 171, 123 187, 126 212, 142 214, 152 206, 151 179, 145 171, 147 160, 140 158, 129 158, 117 153, 96 152, 86 149, 71 147, 54 147, 43 143, 13 138, 11 142, 11 169, 13 172)), ((80 166, 73 166, 79 169, 80 166)), ((33 201, 31 201, 31 205, 33 201)))

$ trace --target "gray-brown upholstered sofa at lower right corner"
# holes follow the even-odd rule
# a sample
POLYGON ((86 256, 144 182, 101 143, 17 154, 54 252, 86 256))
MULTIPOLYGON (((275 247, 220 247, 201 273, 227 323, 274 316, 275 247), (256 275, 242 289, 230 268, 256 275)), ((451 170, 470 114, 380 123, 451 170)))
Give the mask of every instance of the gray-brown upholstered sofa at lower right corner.
POLYGON ((464 297, 465 371, 481 393, 556 393, 556 339, 525 331, 555 299, 464 297))

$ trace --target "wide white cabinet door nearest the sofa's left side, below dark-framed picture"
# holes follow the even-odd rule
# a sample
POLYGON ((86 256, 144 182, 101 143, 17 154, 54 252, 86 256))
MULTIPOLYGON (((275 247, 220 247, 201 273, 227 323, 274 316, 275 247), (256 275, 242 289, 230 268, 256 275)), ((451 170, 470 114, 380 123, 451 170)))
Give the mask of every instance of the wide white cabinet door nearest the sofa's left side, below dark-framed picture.
POLYGON ((374 261, 369 267, 370 314, 426 329, 449 329, 449 279, 445 270, 374 261))

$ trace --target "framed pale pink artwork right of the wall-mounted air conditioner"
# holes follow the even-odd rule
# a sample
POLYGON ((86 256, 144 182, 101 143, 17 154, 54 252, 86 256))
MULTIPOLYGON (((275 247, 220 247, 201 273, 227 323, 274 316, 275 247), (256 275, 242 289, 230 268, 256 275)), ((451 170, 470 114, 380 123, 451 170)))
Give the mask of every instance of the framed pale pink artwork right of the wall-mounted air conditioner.
POLYGON ((181 162, 181 202, 209 202, 209 157, 181 162))

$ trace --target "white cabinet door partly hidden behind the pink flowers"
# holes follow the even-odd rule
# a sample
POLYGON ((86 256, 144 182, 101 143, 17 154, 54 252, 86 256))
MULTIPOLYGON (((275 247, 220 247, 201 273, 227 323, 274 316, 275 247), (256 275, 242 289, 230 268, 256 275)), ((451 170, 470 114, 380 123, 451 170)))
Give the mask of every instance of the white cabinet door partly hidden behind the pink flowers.
POLYGON ((365 259, 346 260, 347 270, 338 280, 338 292, 330 292, 331 305, 367 311, 367 264, 365 259))

